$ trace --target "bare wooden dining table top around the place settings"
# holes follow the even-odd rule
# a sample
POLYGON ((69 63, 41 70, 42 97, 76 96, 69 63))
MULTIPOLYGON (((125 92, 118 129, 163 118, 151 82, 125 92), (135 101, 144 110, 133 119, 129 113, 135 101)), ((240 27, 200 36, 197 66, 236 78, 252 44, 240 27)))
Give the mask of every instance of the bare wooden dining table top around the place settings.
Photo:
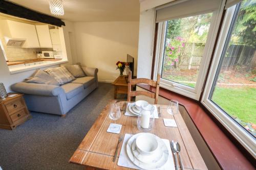
MULTIPOLYGON (((120 102, 120 108, 124 102, 120 102)), ((181 145, 181 159, 184 169, 207 169, 198 148, 191 137, 181 114, 169 115, 166 105, 157 105, 161 108, 161 116, 155 119, 154 129, 150 132, 160 138, 178 141, 181 145), (165 127, 163 118, 174 118, 177 127, 165 127)), ((114 153, 117 147, 120 134, 137 134, 141 131, 137 128, 137 117, 121 115, 117 120, 117 124, 122 125, 120 134, 108 133, 110 123, 113 122, 108 116, 108 104, 100 113, 95 123, 82 140, 79 147, 71 157, 70 162, 81 164, 91 169, 131 169, 117 165, 118 159, 113 162, 114 153)), ((119 157, 121 144, 118 149, 117 156, 119 157)))

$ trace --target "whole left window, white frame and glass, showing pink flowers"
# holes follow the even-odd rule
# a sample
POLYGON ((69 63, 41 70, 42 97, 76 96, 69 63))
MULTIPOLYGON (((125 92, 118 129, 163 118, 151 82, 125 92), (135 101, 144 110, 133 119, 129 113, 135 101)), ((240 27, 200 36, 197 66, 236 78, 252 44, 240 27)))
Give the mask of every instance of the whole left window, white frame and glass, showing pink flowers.
POLYGON ((202 12, 158 23, 154 78, 161 74, 161 87, 199 100, 219 13, 202 12))

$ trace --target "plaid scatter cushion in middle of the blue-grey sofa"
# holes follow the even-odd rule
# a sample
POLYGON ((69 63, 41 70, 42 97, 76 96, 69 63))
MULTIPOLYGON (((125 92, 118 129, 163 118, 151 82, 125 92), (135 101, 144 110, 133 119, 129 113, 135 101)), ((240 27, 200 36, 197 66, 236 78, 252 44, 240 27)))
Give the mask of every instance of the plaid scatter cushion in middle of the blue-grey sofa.
POLYGON ((64 66, 48 68, 45 71, 51 75, 60 85, 75 80, 74 76, 72 76, 64 66))

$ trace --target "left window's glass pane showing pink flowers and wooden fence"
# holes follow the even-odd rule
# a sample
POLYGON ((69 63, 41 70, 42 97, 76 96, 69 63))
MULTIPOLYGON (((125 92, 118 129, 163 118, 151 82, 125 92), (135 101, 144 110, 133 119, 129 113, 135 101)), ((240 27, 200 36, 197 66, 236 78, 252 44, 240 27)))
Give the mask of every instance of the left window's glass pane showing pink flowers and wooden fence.
POLYGON ((195 87, 212 13, 167 21, 162 78, 195 87))

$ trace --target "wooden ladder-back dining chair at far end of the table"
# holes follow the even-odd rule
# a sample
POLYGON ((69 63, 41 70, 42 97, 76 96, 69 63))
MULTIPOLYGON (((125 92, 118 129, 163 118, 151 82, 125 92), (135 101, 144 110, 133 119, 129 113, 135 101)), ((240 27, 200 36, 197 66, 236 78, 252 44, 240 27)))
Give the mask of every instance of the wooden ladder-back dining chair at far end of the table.
POLYGON ((157 104, 158 93, 159 93, 159 82, 160 82, 159 74, 157 75, 157 81, 150 80, 150 79, 144 79, 144 78, 132 79, 132 72, 129 71, 127 101, 131 102, 132 96, 145 95, 145 96, 155 99, 155 104, 157 104), (132 91, 132 85, 136 85, 136 84, 147 84, 147 85, 156 87, 156 93, 150 92, 150 91, 132 91))

